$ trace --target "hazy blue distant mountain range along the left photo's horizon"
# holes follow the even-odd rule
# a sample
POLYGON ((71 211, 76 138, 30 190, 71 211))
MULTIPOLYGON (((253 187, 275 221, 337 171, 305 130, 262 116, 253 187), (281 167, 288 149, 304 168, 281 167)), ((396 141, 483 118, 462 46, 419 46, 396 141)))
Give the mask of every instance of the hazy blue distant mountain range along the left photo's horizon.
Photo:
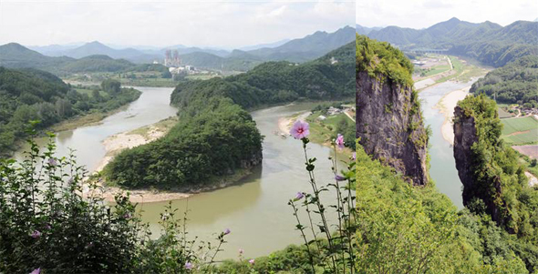
MULTIPOLYGON (((353 41, 355 39, 354 34, 355 29, 346 26, 334 33, 318 31, 303 38, 258 46, 246 46, 243 47, 246 50, 236 49, 233 51, 182 45, 160 49, 148 46, 145 48, 113 48, 98 41, 81 46, 32 46, 34 50, 31 50, 25 46, 10 43, 0 46, 0 66, 30 66, 51 70, 51 67, 58 66, 58 64, 74 62, 88 56, 109 56, 111 59, 125 59, 132 63, 151 63, 154 60, 161 62, 167 49, 175 49, 178 50, 182 63, 185 65, 245 71, 265 61, 305 62, 313 60, 353 41)), ((90 59, 92 62, 106 61, 106 67, 112 62, 103 57, 92 57, 90 59)), ((120 63, 124 64, 123 62, 120 63)))

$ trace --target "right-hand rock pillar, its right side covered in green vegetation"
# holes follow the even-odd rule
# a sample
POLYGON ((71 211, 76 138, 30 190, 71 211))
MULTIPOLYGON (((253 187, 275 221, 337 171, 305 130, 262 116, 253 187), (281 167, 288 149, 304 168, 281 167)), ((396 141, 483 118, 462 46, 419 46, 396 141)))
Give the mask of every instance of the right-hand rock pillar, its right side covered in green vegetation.
POLYGON ((483 94, 467 96, 456 107, 454 125, 466 208, 474 218, 494 221, 489 229, 515 234, 502 238, 532 270, 538 265, 538 189, 529 187, 517 153, 502 141, 495 102, 483 94))

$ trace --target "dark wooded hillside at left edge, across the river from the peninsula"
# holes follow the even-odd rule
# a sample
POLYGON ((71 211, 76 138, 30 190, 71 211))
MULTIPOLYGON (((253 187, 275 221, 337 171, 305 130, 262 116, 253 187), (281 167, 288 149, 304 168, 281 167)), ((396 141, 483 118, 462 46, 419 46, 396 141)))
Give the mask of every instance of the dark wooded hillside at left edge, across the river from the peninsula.
POLYGON ((50 73, 0 66, 0 155, 9 154, 16 141, 26 137, 30 120, 39 120, 36 127, 43 129, 69 117, 115 109, 139 96, 140 91, 119 86, 82 94, 50 73))

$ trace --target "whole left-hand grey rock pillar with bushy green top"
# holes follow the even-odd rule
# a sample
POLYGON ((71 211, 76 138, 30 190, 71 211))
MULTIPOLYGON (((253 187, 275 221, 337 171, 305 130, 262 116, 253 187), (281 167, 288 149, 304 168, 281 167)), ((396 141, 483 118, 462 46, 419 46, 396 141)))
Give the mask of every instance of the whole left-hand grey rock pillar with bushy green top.
POLYGON ((357 36, 357 137, 368 154, 415 185, 429 181, 428 130, 409 59, 388 43, 357 36))

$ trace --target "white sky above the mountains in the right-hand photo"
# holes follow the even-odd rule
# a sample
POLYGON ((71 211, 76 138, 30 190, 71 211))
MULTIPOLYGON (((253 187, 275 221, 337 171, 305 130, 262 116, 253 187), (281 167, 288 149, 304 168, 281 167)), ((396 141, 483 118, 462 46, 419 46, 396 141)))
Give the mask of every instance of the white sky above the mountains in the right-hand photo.
POLYGON ((538 17, 536 0, 357 0, 357 24, 425 28, 452 17, 510 25, 538 17))

